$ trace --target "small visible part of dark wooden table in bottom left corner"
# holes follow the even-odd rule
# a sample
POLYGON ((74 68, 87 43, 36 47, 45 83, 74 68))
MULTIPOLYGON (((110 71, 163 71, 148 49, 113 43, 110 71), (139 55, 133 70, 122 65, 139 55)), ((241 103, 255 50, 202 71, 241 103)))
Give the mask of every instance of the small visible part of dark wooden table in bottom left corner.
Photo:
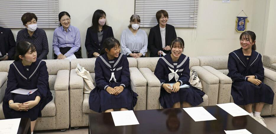
POLYGON ((30 118, 21 118, 17 134, 31 134, 30 118))

